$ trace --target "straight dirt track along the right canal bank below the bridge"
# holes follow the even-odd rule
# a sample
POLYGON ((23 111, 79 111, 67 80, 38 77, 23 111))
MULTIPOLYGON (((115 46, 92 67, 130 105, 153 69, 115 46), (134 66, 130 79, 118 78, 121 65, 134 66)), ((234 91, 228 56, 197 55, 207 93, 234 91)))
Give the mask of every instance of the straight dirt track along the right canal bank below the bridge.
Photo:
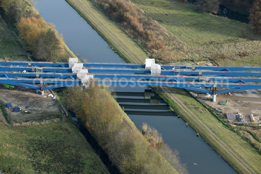
POLYGON ((161 87, 161 89, 163 91, 167 91, 171 95, 173 100, 181 108, 183 108, 183 112, 186 112, 191 117, 191 119, 194 120, 199 127, 201 127, 202 130, 205 130, 205 132, 209 134, 207 136, 213 137, 216 140, 217 144, 221 146, 224 150, 226 150, 227 153, 230 154, 236 161, 238 161, 239 164, 242 164, 242 166, 249 173, 256 173, 248 164, 245 163, 244 160, 240 158, 240 156, 238 156, 238 154, 236 154, 226 143, 224 143, 215 133, 213 133, 213 131, 209 127, 207 127, 207 125, 205 125, 186 105, 184 105, 178 98, 176 98, 175 95, 171 94, 171 91, 169 91, 168 88, 161 87))

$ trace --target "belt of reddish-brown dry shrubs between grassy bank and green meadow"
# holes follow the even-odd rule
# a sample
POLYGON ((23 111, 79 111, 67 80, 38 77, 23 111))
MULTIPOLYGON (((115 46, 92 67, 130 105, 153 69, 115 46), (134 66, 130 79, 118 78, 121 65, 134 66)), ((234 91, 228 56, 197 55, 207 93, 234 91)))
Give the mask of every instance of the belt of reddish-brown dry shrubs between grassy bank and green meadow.
POLYGON ((126 0, 93 0, 159 62, 185 58, 187 45, 126 0))

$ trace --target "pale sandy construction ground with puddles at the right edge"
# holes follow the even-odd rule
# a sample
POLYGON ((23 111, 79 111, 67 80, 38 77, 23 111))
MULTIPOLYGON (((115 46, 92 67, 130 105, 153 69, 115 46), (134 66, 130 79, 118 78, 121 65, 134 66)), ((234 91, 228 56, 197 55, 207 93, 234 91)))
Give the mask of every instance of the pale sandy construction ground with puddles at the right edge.
MULTIPOLYGON (((212 97, 207 101, 211 107, 220 107, 225 113, 242 113, 245 122, 250 122, 250 114, 254 115, 255 123, 261 118, 261 90, 247 90, 231 92, 230 95, 218 94, 217 101, 212 102, 212 97), (221 101, 229 100, 228 106, 219 105, 221 101)), ((260 120, 261 121, 261 120, 260 120)))

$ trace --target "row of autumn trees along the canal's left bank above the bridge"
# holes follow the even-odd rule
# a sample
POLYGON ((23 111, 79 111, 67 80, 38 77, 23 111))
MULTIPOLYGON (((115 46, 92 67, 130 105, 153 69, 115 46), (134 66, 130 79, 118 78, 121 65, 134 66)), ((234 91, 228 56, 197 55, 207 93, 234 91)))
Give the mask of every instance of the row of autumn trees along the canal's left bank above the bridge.
POLYGON ((41 18, 32 0, 1 0, 0 5, 36 60, 56 62, 68 59, 62 37, 54 25, 41 18))

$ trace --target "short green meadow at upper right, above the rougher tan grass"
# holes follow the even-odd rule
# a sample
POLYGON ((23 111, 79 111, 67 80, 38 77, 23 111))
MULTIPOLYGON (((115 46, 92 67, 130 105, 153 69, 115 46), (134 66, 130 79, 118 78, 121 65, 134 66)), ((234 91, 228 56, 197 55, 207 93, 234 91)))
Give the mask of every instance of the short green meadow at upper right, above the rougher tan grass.
POLYGON ((238 21, 195 11, 176 0, 132 0, 146 14, 192 47, 260 40, 238 21))

